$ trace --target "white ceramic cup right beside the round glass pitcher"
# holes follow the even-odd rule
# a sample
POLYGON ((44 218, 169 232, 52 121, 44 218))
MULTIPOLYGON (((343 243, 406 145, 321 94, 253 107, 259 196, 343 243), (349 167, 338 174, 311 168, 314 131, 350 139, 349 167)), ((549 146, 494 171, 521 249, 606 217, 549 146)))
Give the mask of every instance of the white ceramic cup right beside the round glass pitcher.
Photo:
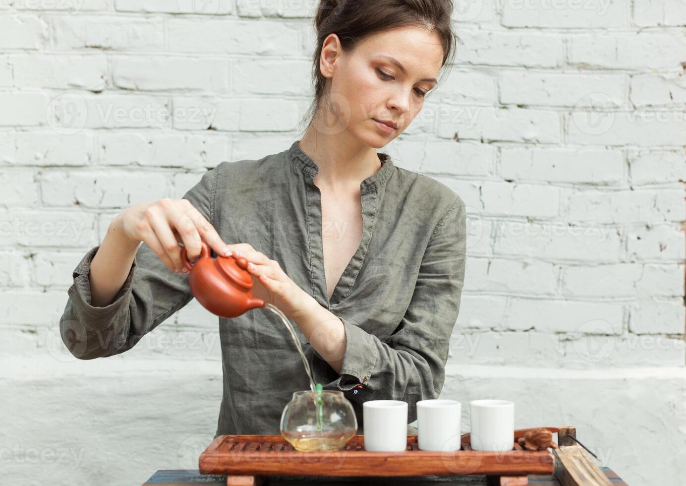
POLYGON ((401 452, 407 449, 407 402, 369 400, 362 404, 364 449, 401 452))

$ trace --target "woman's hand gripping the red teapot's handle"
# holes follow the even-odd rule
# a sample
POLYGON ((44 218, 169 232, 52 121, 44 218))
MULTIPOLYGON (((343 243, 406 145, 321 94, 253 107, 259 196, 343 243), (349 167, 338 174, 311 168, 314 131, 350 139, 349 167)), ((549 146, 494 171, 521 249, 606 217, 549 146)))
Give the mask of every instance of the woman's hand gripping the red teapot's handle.
POLYGON ((111 224, 126 238, 145 242, 176 273, 188 272, 181 260, 179 243, 187 248, 188 259, 200 255, 201 238, 217 255, 228 255, 233 250, 187 199, 164 198, 128 207, 111 224))

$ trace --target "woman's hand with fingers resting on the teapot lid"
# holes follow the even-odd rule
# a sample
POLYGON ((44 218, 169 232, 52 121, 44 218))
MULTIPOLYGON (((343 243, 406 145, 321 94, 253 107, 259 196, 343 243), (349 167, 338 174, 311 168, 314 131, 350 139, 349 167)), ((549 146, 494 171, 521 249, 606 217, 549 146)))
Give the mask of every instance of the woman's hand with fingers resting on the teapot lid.
POLYGON ((233 257, 248 260, 248 273, 252 275, 252 296, 276 305, 289 319, 294 319, 305 309, 309 294, 296 285, 281 269, 276 260, 269 259, 249 243, 228 245, 233 257))

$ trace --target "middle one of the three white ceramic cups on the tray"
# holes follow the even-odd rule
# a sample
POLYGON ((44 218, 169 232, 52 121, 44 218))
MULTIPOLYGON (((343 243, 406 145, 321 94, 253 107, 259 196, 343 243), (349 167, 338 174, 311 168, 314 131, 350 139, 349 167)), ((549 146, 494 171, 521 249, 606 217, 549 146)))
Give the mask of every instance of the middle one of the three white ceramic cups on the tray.
POLYGON ((417 402, 417 442, 421 450, 460 450, 460 416, 457 400, 417 402))

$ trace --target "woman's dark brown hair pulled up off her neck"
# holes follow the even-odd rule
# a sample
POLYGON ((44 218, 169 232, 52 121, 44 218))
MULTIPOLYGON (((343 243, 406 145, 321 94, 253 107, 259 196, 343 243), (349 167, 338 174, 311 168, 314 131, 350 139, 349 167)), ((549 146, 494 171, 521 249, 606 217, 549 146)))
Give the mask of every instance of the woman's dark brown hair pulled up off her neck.
POLYGON ((305 130, 314 121, 324 96, 327 78, 322 76, 319 61, 324 40, 329 35, 336 34, 343 50, 348 52, 361 40, 378 32, 414 25, 425 27, 436 32, 442 41, 443 67, 455 56, 452 12, 453 0, 321 0, 314 17, 317 34, 317 48, 312 57, 314 100, 303 117, 303 122, 308 122, 305 130))

